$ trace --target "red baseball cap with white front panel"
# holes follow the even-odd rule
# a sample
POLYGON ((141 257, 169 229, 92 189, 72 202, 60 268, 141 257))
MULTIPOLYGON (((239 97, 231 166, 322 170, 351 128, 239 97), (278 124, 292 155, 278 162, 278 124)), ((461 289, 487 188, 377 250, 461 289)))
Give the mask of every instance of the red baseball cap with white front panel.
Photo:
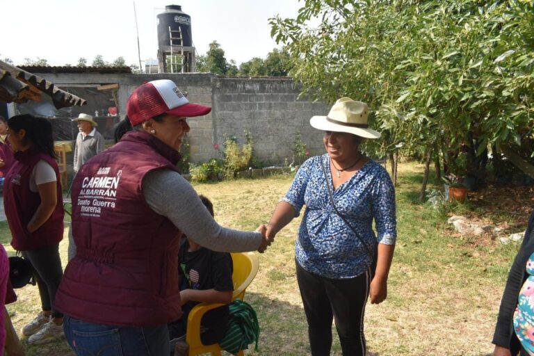
POLYGON ((144 83, 133 90, 126 104, 132 126, 163 113, 193 118, 207 115, 210 111, 210 106, 190 103, 176 84, 168 79, 144 83))

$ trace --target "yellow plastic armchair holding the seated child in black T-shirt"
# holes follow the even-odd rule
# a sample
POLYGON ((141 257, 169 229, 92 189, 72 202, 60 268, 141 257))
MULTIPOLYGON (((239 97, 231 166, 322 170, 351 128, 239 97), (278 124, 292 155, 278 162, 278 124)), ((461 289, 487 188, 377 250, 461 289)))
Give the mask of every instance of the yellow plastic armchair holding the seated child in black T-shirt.
MULTIPOLYGON (((245 298, 245 290, 258 273, 258 257, 251 252, 232 253, 232 261, 234 263, 234 273, 232 273, 234 293, 232 294, 232 301, 236 299, 243 300, 245 298)), ((222 307, 223 305, 221 303, 200 303, 191 310, 187 319, 186 335, 186 342, 189 345, 189 356, 200 355, 202 353, 211 353, 211 355, 220 356, 222 349, 218 343, 204 345, 200 341, 200 321, 206 312, 216 307, 222 307)), ((240 350, 237 355, 243 356, 243 350, 240 350)))

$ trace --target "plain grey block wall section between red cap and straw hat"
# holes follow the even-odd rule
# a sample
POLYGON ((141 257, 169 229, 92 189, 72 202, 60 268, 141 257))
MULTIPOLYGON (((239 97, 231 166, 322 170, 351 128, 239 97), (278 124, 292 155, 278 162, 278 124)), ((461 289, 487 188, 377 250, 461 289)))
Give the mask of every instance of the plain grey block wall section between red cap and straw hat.
POLYGON ((309 126, 313 115, 326 115, 323 103, 298 99, 291 78, 216 78, 213 86, 215 140, 236 136, 245 143, 252 134, 254 154, 265 163, 291 163, 291 146, 297 133, 311 155, 324 152, 323 133, 309 126))

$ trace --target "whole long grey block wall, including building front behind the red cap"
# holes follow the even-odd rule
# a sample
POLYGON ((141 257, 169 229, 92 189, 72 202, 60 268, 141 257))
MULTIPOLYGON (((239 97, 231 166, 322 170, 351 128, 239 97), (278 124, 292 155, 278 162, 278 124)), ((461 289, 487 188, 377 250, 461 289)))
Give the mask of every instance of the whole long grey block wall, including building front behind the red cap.
POLYGON ((215 74, 94 74, 35 73, 57 86, 118 83, 119 114, 126 114, 131 92, 145 81, 170 79, 187 93, 191 102, 212 107, 202 118, 190 118, 188 140, 194 163, 220 157, 225 138, 236 136, 245 143, 245 132, 254 140, 254 154, 264 163, 292 160, 291 145, 297 133, 310 155, 325 152, 323 133, 309 126, 313 115, 326 115, 329 106, 298 99, 291 78, 226 78, 215 74), (216 148, 218 147, 218 149, 216 148))

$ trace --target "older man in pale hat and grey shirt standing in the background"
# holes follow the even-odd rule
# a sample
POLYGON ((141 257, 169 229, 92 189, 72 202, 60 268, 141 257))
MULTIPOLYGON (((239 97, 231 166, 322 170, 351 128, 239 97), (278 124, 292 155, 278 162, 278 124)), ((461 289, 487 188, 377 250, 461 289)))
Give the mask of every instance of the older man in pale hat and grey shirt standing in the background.
POLYGON ((72 121, 78 122, 78 129, 80 130, 74 147, 74 172, 78 172, 83 163, 104 151, 104 136, 95 129, 98 124, 91 115, 80 114, 72 121))

